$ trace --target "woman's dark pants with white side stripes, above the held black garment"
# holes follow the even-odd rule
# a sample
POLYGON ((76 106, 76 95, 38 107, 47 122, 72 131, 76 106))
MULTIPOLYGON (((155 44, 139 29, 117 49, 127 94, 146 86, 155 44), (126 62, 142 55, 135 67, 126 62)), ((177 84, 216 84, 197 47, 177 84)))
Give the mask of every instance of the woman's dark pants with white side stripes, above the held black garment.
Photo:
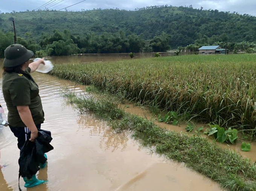
MULTIPOLYGON (((27 127, 12 127, 9 126, 14 136, 18 138, 18 148, 21 150, 26 140, 30 138, 31 132, 27 127)), ((36 125, 38 129, 41 129, 41 124, 36 125)))

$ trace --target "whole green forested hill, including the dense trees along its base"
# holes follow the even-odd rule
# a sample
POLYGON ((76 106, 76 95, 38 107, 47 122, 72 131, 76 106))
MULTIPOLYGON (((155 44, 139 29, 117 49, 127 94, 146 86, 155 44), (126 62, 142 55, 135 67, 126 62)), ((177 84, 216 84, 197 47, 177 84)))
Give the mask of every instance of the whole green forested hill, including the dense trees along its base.
POLYGON ((198 51, 213 44, 235 53, 256 51, 256 17, 165 5, 135 11, 99 8, 2 13, 0 57, 14 43, 12 19, 17 43, 38 51, 37 56, 164 52, 174 48, 198 51))

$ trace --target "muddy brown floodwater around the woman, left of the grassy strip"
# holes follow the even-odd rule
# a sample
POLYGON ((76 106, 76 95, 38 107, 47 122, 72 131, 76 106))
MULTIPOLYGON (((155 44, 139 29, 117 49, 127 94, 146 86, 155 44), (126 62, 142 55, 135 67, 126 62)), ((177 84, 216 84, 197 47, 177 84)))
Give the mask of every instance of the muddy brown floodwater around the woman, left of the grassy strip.
MULTIPOLYGON (((92 114, 79 114, 59 92, 64 86, 72 88, 71 82, 38 72, 32 76, 40 88, 45 112, 42 128, 52 132, 54 150, 47 154, 47 167, 37 174, 49 181, 28 191, 222 190, 183 164, 165 161, 140 147, 130 134, 115 134, 92 114)), ((76 92, 82 90, 84 86, 76 87, 76 92)), ((3 98, 0 103, 7 113, 3 98)), ((0 170, 0 191, 18 190, 18 158, 14 139, 1 150, 1 164, 7 166, 0 170)), ((22 179, 20 185, 26 190, 22 179)))

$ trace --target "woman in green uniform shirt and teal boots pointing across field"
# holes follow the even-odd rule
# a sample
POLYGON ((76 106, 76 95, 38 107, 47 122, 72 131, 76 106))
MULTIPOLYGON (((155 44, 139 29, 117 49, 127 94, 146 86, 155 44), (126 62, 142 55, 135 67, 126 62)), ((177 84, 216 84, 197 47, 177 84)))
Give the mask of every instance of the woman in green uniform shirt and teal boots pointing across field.
MULTIPOLYGON (((21 149, 27 138, 35 141, 38 130, 44 122, 44 112, 39 96, 39 89, 30 73, 44 64, 44 59, 29 63, 34 53, 23 45, 14 44, 6 48, 3 61, 3 96, 8 108, 8 122, 11 131, 18 138, 18 148, 21 149)), ((45 155, 46 156, 46 155, 45 155)), ((41 164, 44 168, 46 164, 41 164)), ((23 177, 25 187, 43 183, 34 175, 32 179, 23 177)))

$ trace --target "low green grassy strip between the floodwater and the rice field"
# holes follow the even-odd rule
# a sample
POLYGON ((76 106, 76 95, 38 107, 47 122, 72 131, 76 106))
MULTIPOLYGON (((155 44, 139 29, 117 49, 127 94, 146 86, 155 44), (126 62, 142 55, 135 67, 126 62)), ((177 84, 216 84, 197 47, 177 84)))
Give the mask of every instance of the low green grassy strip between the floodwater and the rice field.
POLYGON ((256 190, 255 163, 251 164, 235 152, 222 150, 206 138, 160 128, 148 119, 125 113, 117 103, 105 96, 102 99, 77 97, 75 104, 81 112, 92 111, 96 116, 110 120, 111 127, 117 133, 131 131, 143 146, 154 148, 156 153, 168 159, 185 162, 188 167, 231 191, 256 190))

